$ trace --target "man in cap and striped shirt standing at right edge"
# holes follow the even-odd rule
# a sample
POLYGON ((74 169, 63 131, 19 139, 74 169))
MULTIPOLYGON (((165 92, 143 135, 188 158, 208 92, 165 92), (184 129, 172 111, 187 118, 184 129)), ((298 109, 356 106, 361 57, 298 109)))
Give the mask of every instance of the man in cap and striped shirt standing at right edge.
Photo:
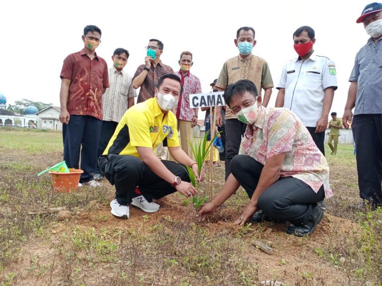
POLYGON ((367 5, 357 23, 364 24, 370 39, 356 55, 342 117, 348 129, 355 107, 352 130, 362 202, 351 207, 361 209, 369 203, 377 208, 382 206, 382 3, 367 5))

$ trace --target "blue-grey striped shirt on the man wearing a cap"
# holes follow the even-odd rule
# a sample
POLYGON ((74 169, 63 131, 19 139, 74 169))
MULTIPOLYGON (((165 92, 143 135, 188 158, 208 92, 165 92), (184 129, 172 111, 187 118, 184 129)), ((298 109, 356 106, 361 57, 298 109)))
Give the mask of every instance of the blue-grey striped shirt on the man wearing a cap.
POLYGON ((382 40, 372 38, 357 53, 349 81, 358 81, 354 115, 382 114, 382 40))

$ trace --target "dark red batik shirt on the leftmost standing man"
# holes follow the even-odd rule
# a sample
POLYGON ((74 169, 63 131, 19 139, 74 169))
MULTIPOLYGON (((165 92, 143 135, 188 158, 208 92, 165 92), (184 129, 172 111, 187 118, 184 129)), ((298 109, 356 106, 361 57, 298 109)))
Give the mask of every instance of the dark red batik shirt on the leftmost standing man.
POLYGON ((96 54, 91 60, 83 49, 65 58, 60 77, 70 80, 69 114, 90 115, 102 120, 102 90, 109 87, 105 60, 96 54))

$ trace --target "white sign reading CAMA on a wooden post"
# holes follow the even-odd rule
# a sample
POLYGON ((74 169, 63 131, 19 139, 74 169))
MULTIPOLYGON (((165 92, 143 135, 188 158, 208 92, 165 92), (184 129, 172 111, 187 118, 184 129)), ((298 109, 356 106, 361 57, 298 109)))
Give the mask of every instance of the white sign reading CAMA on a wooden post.
POLYGON ((223 97, 224 91, 209 92, 209 93, 198 93, 190 94, 190 107, 209 107, 209 122, 210 122, 210 140, 211 149, 209 151, 209 174, 208 174, 208 185, 207 185, 207 195, 208 201, 212 200, 213 197, 213 138, 215 136, 215 119, 216 119, 216 107, 224 106, 225 101, 223 97), (214 107, 212 111, 212 107, 214 107), (213 113, 213 117, 212 117, 213 113), (212 122, 211 122, 212 121, 212 122))

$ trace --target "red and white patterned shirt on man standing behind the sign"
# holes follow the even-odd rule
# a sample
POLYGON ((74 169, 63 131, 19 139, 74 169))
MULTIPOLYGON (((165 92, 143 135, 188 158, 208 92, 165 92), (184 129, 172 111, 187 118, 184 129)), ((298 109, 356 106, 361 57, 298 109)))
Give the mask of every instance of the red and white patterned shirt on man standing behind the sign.
MULTIPOLYGON (((175 72, 182 79, 182 72, 175 72)), ((200 80, 190 71, 183 78, 183 93, 176 107, 176 115, 178 119, 184 121, 192 121, 193 108, 190 108, 190 94, 201 93, 200 80), (179 108, 180 107, 180 108, 179 108)))

